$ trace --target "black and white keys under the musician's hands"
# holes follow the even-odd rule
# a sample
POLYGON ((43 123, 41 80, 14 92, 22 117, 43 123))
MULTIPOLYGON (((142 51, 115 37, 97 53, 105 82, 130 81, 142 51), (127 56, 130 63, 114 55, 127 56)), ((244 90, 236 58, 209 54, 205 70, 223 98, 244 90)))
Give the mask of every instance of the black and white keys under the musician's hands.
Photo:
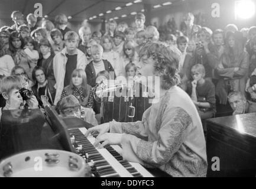
POLYGON ((104 148, 93 146, 95 135, 85 137, 87 129, 69 129, 77 145, 82 145, 88 154, 88 161, 93 160, 99 177, 154 177, 141 164, 122 158, 122 148, 118 145, 105 145, 104 148))

